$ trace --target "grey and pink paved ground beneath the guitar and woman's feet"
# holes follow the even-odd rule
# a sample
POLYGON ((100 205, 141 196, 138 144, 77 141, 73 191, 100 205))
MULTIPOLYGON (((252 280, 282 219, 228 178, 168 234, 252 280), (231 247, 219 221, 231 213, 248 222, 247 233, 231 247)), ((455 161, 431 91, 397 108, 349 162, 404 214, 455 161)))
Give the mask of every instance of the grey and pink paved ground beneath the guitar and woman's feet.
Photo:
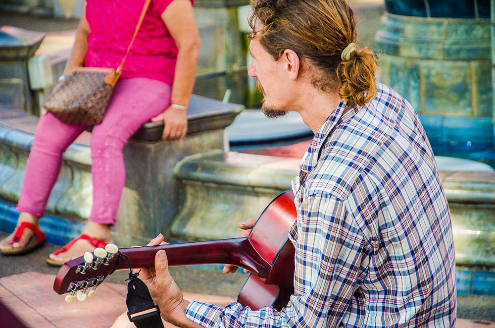
MULTIPOLYGON (((7 234, 0 232, 0 238, 7 234)), ((59 245, 46 244, 24 256, 0 256, 0 302, 30 328, 104 328, 126 310, 128 271, 109 275, 97 294, 84 303, 67 304, 63 295, 53 291, 58 268, 45 259, 59 245), (98 296, 98 297, 97 297, 98 296)), ((198 267, 171 268, 177 284, 188 300, 230 303, 237 299, 247 274, 223 274, 198 267)), ((2 325, 0 313, 0 328, 2 325)))

